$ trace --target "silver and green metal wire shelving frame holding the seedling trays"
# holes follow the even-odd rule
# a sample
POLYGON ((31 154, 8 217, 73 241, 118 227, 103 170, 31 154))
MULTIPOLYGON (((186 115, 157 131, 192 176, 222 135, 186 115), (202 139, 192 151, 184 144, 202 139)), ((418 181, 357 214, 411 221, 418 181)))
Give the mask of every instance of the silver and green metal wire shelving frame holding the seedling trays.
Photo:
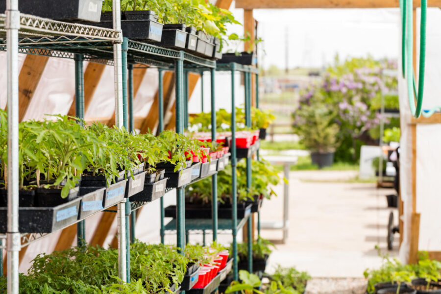
MULTIPOLYGON (((75 111, 76 116, 84 119, 84 76, 83 62, 98 62, 114 66, 115 74, 115 122, 119 127, 133 131, 133 68, 134 66, 146 66, 158 68, 159 74, 159 130, 164 129, 164 106, 163 106, 163 72, 172 70, 175 74, 176 87, 176 132, 184 132, 188 125, 188 73, 196 72, 201 75, 209 71, 211 73, 211 109, 212 123, 216 122, 215 111, 215 73, 216 61, 204 59, 184 51, 160 48, 154 45, 136 42, 123 38, 120 20, 120 1, 113 1, 114 29, 100 28, 90 25, 72 24, 44 19, 18 12, 18 1, 8 0, 11 6, 6 14, 0 14, 0 50, 7 52, 8 59, 8 228, 6 234, 0 234, 1 246, 8 252, 8 293, 18 293, 18 252, 50 233, 20 233, 18 229, 18 53, 44 55, 57 58, 75 60, 75 111), (6 31, 6 34, 4 33, 6 31), (127 91, 128 89, 128 91, 127 91), (3 245, 3 239, 6 244, 3 245)), ((241 68, 234 66, 234 68, 241 68)), ((234 81, 233 81, 234 83, 234 81)), ((232 85, 234 89, 234 84, 232 85)), ((248 98, 249 98, 249 90, 248 98)), ((245 95, 246 97, 246 95, 245 95)), ((232 101, 234 102, 234 91, 232 101)), ((249 100, 247 105, 249 108, 249 100)), ((234 110, 234 103, 233 103, 234 110)), ((248 121, 250 117, 248 116, 248 121)), ((235 124, 235 119, 232 120, 235 124)), ((234 129, 234 127, 233 127, 234 129)), ((234 134, 234 132, 233 132, 234 134)), ((234 135, 233 135, 234 136, 234 135)), ((216 140, 216 132, 213 130, 212 139, 216 140)), ((233 140, 234 142, 234 140, 233 140)), ((233 143, 235 144, 235 143, 233 143)), ((235 153, 235 151, 233 151, 235 153)), ((233 156, 232 158, 235 158, 233 156)), ((232 159, 232 163, 235 159, 232 159)), ((235 168, 235 167, 234 167, 235 168)), ((213 174, 213 198, 217 199, 217 174, 213 174)), ((235 183, 236 184, 236 183, 235 183)), ((235 185, 234 184, 234 185, 235 185)), ((234 189, 236 187, 234 186, 234 189)), ((172 189, 166 190, 170 192, 172 189)), ((235 190, 236 191, 236 190, 235 190)), ((164 239, 164 205, 161 197, 161 236, 164 239)), ((118 253, 119 253, 119 277, 123 281, 130 281, 130 239, 135 236, 135 210, 150 202, 129 202, 125 198, 117 204, 118 212, 118 253), (129 218, 132 218, 132 226, 129 228, 129 218), (124 238, 125 237, 125 238, 124 238), (131 237, 131 238, 130 238, 131 237)), ((217 201, 214 201, 217 203, 217 201)), ((175 224, 177 233, 177 246, 185 246, 185 203, 184 187, 176 189, 177 220, 175 224)), ((105 209, 103 209, 105 210, 105 209)), ((218 219, 217 205, 213 207, 212 231, 213 239, 217 238, 218 219)), ((98 213, 98 212, 97 212, 98 213)), ((233 235, 237 232, 237 217, 232 219, 235 224, 233 235)), ((240 222, 243 226, 244 220, 240 222)), ((223 221, 220 229, 224 229, 223 221)), ((77 221, 78 240, 84 240, 84 221, 77 221)), ((235 239, 235 237, 234 237, 235 239)), ((1 250, 0 249, 0 250, 1 250)), ((237 252, 235 253, 237 255, 237 252)), ((235 255, 235 256, 236 256, 235 255)), ((235 262, 237 272, 237 258, 235 262)), ((0 267, 2 269, 2 267, 0 267)), ((237 275, 237 274, 236 274, 237 275)))

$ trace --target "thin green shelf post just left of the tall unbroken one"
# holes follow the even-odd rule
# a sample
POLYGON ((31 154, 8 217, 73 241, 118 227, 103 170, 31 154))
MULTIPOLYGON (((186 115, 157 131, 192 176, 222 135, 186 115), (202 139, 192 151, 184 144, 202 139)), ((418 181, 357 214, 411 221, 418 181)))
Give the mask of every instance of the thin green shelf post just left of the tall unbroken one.
MULTIPOLYGON (((211 78, 211 141, 216 142, 216 99, 215 99, 216 69, 210 70, 211 78)), ((211 209, 213 220, 213 241, 218 240, 218 174, 211 176, 211 209)))

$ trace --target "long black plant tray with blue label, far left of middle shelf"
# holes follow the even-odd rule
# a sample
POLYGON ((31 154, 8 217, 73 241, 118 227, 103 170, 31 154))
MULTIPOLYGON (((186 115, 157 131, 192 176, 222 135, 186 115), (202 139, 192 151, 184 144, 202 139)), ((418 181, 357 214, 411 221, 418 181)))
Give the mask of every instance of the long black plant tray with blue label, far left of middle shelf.
MULTIPOLYGON (((55 207, 20 207, 19 231, 21 233, 51 233, 78 220, 81 198, 55 207)), ((0 232, 7 228, 7 208, 0 208, 0 232)))

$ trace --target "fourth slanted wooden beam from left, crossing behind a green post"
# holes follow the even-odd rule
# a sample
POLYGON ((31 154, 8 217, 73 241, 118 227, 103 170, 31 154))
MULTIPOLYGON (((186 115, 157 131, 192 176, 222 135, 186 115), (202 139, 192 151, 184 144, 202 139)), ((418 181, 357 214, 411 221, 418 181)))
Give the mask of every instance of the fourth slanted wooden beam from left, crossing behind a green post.
MULTIPOLYGON (((166 101, 170 99, 173 94, 174 89, 174 73, 165 72, 163 76, 163 89, 164 89, 164 110, 167 110, 166 101)), ((151 104, 150 110, 148 111, 147 117, 141 125, 141 134, 145 134, 148 130, 152 131, 159 120, 159 93, 156 91, 155 97, 153 98, 153 103, 151 104)))

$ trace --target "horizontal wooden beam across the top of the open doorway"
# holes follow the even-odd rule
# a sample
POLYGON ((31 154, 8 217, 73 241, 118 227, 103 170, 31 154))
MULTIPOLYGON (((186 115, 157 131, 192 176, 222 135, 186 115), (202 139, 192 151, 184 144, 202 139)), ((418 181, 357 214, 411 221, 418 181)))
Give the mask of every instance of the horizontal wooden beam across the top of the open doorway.
MULTIPOLYGON (((420 1, 414 0, 414 7, 420 1)), ((441 0, 429 0, 428 6, 441 7, 441 0)), ((236 8, 283 9, 283 8, 396 8, 399 0, 236 0, 236 8)))

